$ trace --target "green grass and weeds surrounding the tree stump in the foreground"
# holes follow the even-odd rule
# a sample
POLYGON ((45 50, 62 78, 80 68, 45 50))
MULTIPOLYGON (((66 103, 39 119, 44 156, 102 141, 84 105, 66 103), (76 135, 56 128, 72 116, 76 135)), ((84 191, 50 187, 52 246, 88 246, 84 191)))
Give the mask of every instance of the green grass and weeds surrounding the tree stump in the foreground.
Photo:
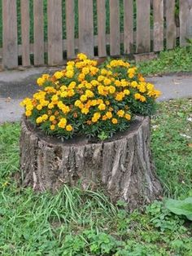
MULTIPOLYGON (((151 148, 164 196, 192 196, 192 99, 159 104, 151 148)), ((20 125, 0 126, 0 254, 190 256, 192 225, 155 201, 129 214, 103 192, 67 186, 55 196, 18 188, 20 125)))

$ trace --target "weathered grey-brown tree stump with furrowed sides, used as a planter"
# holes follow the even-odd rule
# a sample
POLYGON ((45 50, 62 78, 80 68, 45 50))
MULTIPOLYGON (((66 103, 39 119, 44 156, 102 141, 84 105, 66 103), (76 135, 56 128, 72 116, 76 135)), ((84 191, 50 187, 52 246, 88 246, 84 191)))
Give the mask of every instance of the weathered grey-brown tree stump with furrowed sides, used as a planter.
POLYGON ((112 201, 130 210, 159 197, 161 185, 151 161, 150 119, 137 117, 128 131, 93 143, 46 136, 25 117, 21 121, 20 170, 23 185, 55 191, 63 184, 102 187, 112 201))

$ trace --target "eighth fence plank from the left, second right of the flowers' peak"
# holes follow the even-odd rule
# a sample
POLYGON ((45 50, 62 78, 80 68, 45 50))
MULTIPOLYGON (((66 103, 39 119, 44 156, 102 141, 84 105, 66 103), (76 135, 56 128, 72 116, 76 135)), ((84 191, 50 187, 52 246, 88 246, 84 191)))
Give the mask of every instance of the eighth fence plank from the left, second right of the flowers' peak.
POLYGON ((110 0, 110 55, 120 55, 120 2, 110 0))

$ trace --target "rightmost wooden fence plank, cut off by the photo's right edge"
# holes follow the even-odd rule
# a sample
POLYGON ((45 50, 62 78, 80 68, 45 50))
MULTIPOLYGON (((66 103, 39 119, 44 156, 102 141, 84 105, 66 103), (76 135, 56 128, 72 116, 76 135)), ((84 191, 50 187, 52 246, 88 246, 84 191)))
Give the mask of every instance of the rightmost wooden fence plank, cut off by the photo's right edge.
POLYGON ((180 46, 187 46, 192 38, 192 0, 180 0, 180 46))

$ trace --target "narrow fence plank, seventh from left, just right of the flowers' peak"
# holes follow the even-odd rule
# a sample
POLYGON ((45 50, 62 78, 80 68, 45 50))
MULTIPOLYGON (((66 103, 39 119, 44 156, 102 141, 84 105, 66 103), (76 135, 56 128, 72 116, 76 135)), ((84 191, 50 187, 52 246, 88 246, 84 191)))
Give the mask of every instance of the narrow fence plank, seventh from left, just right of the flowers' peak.
POLYGON ((98 56, 105 57, 106 52, 106 7, 105 1, 97 1, 98 11, 98 56))

